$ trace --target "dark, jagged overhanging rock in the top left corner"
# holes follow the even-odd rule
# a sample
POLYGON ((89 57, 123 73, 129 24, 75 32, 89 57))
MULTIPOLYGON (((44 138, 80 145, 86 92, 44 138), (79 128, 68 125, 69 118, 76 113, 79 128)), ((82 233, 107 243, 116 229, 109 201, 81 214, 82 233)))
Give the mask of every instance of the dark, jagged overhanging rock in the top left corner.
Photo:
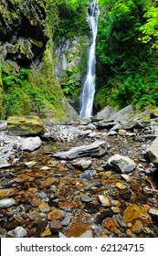
POLYGON ((11 59, 25 68, 41 59, 48 40, 44 2, 2 0, 0 6, 1 59, 11 59))

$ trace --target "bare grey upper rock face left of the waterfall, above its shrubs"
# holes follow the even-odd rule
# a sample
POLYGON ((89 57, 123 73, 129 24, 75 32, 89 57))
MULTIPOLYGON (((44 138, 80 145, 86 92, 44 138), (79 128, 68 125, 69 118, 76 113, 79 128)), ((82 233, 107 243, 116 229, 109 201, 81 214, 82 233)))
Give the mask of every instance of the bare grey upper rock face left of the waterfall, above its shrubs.
POLYGON ((72 83, 80 86, 87 59, 89 37, 61 37, 58 45, 54 43, 54 74, 58 81, 66 82, 69 77, 72 83), (84 65, 83 65, 84 64, 84 65), (73 74, 69 74, 72 72, 73 74))

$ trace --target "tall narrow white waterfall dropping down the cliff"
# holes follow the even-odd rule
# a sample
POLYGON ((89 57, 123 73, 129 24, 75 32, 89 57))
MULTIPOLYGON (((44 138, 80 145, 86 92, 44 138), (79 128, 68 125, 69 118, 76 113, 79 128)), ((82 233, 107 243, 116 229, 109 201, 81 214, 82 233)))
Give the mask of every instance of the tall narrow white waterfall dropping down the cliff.
POLYGON ((91 1, 89 6, 88 21, 91 29, 90 49, 88 55, 88 69, 86 80, 83 84, 82 92, 80 95, 80 117, 90 117, 92 115, 93 100, 95 93, 95 64, 96 64, 96 39, 98 32, 98 16, 99 4, 94 0, 91 1))

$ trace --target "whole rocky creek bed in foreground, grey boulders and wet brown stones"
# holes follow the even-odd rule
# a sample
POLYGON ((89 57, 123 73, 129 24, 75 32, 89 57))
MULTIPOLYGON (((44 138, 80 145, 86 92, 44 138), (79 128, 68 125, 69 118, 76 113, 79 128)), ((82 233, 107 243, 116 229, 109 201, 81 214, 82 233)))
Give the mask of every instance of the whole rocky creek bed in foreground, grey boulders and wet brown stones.
POLYGON ((42 127, 0 123, 1 237, 158 236, 156 110, 42 127))

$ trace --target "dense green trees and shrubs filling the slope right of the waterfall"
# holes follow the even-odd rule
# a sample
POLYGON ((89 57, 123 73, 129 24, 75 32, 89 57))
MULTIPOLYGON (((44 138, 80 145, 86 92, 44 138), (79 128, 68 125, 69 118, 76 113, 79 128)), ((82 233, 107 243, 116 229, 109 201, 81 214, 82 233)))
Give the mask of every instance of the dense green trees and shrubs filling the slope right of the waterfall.
POLYGON ((99 2, 96 103, 158 105, 158 1, 99 2))

